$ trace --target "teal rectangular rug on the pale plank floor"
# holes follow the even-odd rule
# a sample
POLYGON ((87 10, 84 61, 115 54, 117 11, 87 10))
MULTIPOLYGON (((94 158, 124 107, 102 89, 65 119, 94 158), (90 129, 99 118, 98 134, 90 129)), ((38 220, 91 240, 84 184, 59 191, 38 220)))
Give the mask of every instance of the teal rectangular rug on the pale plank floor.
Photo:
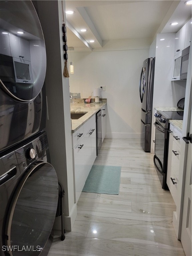
POLYGON ((93 165, 83 192, 119 194, 121 166, 93 165))

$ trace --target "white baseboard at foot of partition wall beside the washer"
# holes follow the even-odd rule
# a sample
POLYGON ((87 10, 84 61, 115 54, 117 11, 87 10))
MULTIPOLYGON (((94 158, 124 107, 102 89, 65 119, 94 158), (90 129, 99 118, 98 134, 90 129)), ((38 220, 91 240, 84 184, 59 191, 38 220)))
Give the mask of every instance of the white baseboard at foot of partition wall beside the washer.
MULTIPOLYGON (((70 216, 64 216, 64 229, 71 231, 77 217, 77 204, 74 204, 70 216)), ((54 230, 61 230, 61 216, 55 218, 53 225, 54 230)))

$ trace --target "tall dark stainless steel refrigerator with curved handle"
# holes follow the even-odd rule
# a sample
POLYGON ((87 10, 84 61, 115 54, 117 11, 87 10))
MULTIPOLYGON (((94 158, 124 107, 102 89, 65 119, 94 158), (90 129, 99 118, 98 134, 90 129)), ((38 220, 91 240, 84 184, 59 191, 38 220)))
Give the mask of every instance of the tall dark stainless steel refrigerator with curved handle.
POLYGON ((139 95, 141 100, 141 146, 145 152, 151 151, 151 126, 153 107, 155 58, 148 58, 143 62, 139 81, 139 95))

